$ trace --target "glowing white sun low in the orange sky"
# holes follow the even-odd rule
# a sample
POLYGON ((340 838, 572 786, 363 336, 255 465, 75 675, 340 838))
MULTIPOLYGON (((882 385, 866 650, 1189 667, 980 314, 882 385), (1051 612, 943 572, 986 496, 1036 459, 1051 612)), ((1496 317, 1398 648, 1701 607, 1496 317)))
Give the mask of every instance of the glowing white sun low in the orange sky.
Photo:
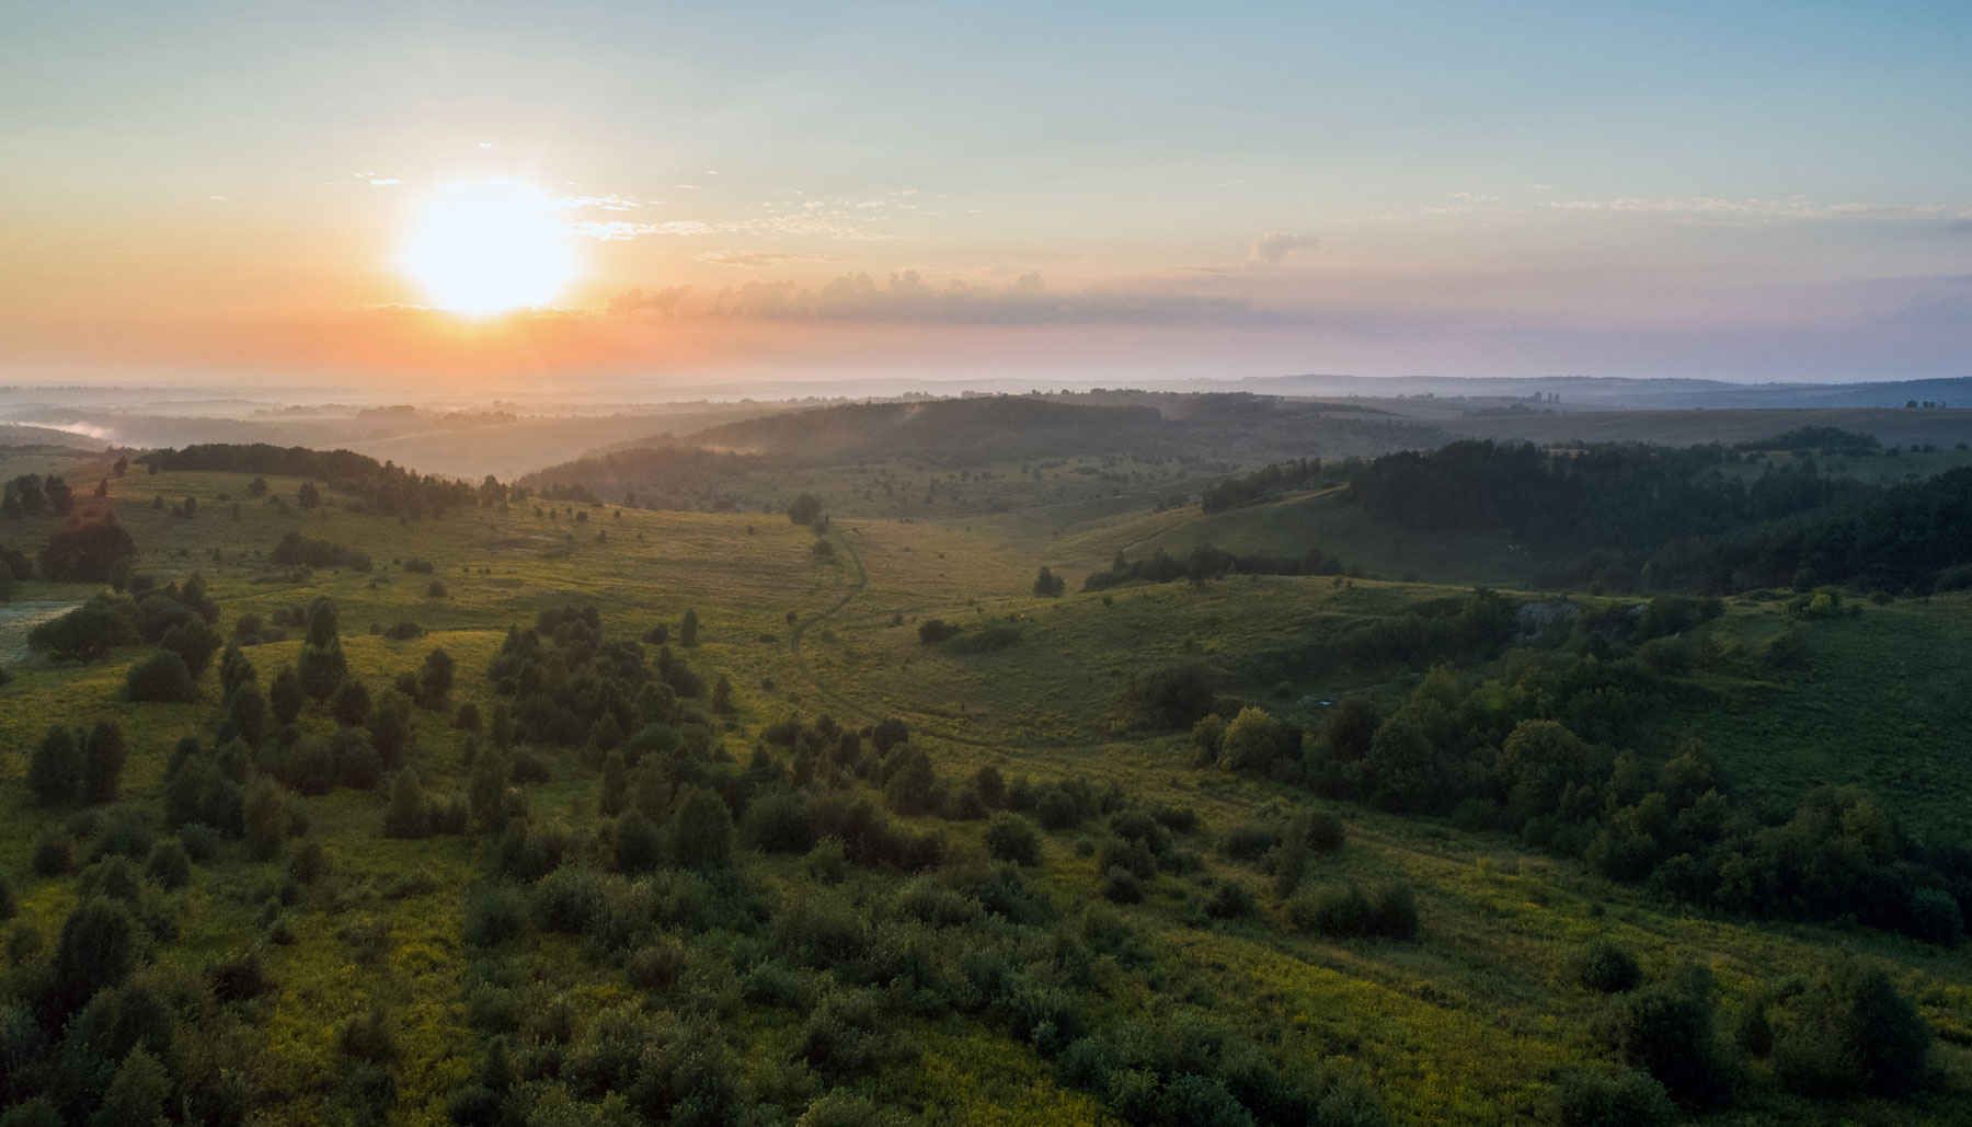
POLYGON ((546 305, 576 274, 560 209, 538 187, 511 179, 440 189, 398 262, 434 305, 465 317, 546 305))

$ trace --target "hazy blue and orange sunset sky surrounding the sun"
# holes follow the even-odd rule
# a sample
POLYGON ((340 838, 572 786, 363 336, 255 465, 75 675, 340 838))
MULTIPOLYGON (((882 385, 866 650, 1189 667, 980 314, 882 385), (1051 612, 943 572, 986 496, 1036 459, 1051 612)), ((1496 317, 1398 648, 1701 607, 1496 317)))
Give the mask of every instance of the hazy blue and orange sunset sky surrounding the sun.
POLYGON ((8 380, 1972 374, 1962 2, 0 26, 8 380), (566 238, 546 303, 406 270, 483 183, 566 238))

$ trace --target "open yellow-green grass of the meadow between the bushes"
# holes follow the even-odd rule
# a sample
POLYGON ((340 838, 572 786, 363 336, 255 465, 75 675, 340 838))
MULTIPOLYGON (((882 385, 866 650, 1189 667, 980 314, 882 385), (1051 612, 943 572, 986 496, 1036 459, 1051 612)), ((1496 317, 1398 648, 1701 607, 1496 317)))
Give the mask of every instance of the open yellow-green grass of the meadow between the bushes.
MULTIPOLYGON (((298 481, 270 481, 292 498, 298 481)), ((686 609, 702 621, 690 660, 708 678, 726 674, 738 713, 716 733, 738 759, 765 725, 791 713, 834 713, 846 723, 903 717, 941 774, 998 766, 1008 776, 1087 776, 1124 786, 1146 804, 1183 804, 1201 818, 1189 837, 1203 855, 1189 877, 1160 879, 1136 906, 1118 908, 1156 973, 1100 969, 1100 1007, 1118 1021, 1195 1007, 1236 1011, 1274 1030, 1290 1058, 1329 1062, 1367 1078, 1396 1121, 1552 1121, 1560 1072, 1601 1058, 1593 1034, 1605 1005, 1574 979, 1574 961, 1593 938, 1635 950, 1651 975, 1698 963, 1716 975, 1727 1013, 1777 977, 1808 971, 1834 950, 1889 967, 1938 1032, 1940 1082, 1915 1103, 1820 1103, 1785 1095, 1769 1066, 1751 1066, 1747 1095, 1714 1115, 1722 1123, 1964 1121, 1972 1090, 1972 965, 1946 952, 1858 928, 1755 924, 1666 908, 1664 902, 1593 877, 1584 865, 1532 853, 1505 837, 1451 829, 1432 820, 1329 806, 1280 784, 1199 772, 1189 741, 1132 731, 1116 701, 1132 676, 1183 662, 1223 662, 1341 625, 1386 617, 1422 599, 1461 593, 1475 579, 1520 573, 1505 544, 1378 540, 1331 497, 1197 518, 1195 506, 1163 514, 1083 520, 1047 536, 1021 536, 966 516, 921 522, 838 518, 828 534, 834 560, 812 552, 816 536, 783 516, 692 514, 515 504, 438 520, 398 522, 335 504, 317 512, 276 510, 248 500, 246 479, 162 473, 118 479, 110 500, 142 548, 140 569, 177 577, 201 571, 223 607, 221 629, 239 615, 272 615, 316 595, 341 607, 351 670, 387 684, 444 646, 459 666, 458 701, 491 705, 485 668, 505 630, 572 597, 592 599, 611 638, 635 638, 686 609), (197 498, 197 516, 156 508, 197 498), (239 504, 239 516, 233 506, 239 504), (578 516, 586 514, 586 520, 578 516), (359 548, 375 569, 288 573, 264 556, 288 530, 359 548), (1102 565, 1163 546, 1181 552, 1213 542, 1240 552, 1319 544, 1376 573, 1416 573, 1457 585, 1337 581, 1329 577, 1236 577, 1207 585, 1128 587, 1110 595, 1029 593, 1039 564, 1102 565), (402 567, 430 560, 434 573, 402 567), (1477 575, 1473 575, 1473 562, 1477 575), (430 591, 432 581, 444 593, 430 591), (919 642, 917 625, 945 619, 976 627, 1006 623, 1018 640, 996 652, 962 654, 919 642), (371 627, 414 621, 416 640, 387 640, 371 627), (1404 879, 1418 895, 1416 942, 1323 940, 1282 926, 1264 877, 1223 857, 1211 841, 1231 828, 1288 810, 1341 814, 1349 843, 1321 857, 1311 883, 1404 879), (1207 920, 1199 904, 1215 883, 1250 885, 1262 902, 1248 920, 1207 920)), ((77 475, 79 493, 83 475, 77 475)), ((1002 518, 1002 520, 1014 520, 1002 518)), ((47 524, 18 522, 8 540, 32 548, 47 524)), ((1071 591, 1081 573, 1071 571, 1071 591)), ((22 597, 39 605, 79 601, 89 587, 35 583, 22 597)), ((1718 629, 1747 644, 1781 629, 1767 607, 1735 605, 1718 629)), ((1952 824, 1964 796, 1966 672, 1954 656, 1972 632, 1972 601, 1933 599, 1866 607, 1852 619, 1808 627, 1812 672, 1735 686, 1743 707, 1694 717, 1735 772, 1763 792, 1793 794, 1820 780, 1864 780, 1897 798, 1927 829, 1952 824)), ((292 660, 296 640, 254 646, 262 680, 292 660)), ((75 881, 30 875, 35 835, 63 818, 28 804, 26 755, 51 721, 116 717, 132 739, 126 802, 156 804, 164 762, 183 735, 203 735, 217 705, 213 674, 191 705, 120 699, 126 668, 142 650, 93 666, 16 662, 0 688, 0 869, 14 877, 22 920, 43 936, 75 904, 75 881)), ((1292 686, 1272 699, 1292 713, 1300 694, 1382 692, 1388 670, 1345 672, 1292 686)), ((1408 676, 1408 674, 1406 674, 1408 676)), ((1268 696, 1274 686, 1232 686, 1268 696)), ((327 731, 310 713, 310 731, 327 731)), ((438 713, 418 711, 414 766, 440 790, 465 780, 463 737, 438 713)), ((554 762, 554 778, 532 786, 538 812, 576 828, 598 822, 598 772, 576 757, 554 762)), ((179 942, 166 961, 197 967, 256 946, 278 991, 256 1034, 254 1078, 268 1123, 319 1121, 343 1068, 335 1030, 377 1003, 398 1023, 394 1121, 440 1121, 448 1092, 475 1066, 467 1021, 469 952, 461 942, 463 891, 481 873, 485 845, 469 837, 424 841, 379 833, 381 794, 337 790, 298 800, 327 851, 335 883, 286 908, 294 942, 264 946, 262 904, 278 865, 229 855, 199 867, 179 895, 179 942)), ((911 820, 933 826, 931 820, 911 820)), ((956 822, 947 833, 978 849, 984 826, 956 822)), ((1096 900, 1100 873, 1087 831, 1047 835, 1033 873, 1067 912, 1096 900)), ((773 895, 805 885, 799 859, 747 863, 747 881, 773 895)), ((856 873, 844 895, 887 896, 895 881, 856 873)), ((763 893, 763 895, 765 895, 763 893)), ((582 1015, 641 1003, 615 965, 580 940, 534 936, 523 958, 527 997, 556 997, 582 1015)), ((710 971, 708 971, 710 973, 710 971)), ((722 973, 732 975, 728 965, 722 973)), ((692 989, 698 989, 696 985, 692 989)), ((704 987, 712 989, 712 987, 704 987)), ((779 1076, 793 1023, 777 1011, 736 1011, 743 1064, 757 1084, 779 1076)), ((958 1017, 911 1019, 899 1030, 917 1058, 887 1097, 911 1117, 951 1123, 1110 1121, 1087 1092, 1061 1082, 1031 1046, 958 1017)), ((578 1121, 570 1117, 570 1121, 578 1121)))

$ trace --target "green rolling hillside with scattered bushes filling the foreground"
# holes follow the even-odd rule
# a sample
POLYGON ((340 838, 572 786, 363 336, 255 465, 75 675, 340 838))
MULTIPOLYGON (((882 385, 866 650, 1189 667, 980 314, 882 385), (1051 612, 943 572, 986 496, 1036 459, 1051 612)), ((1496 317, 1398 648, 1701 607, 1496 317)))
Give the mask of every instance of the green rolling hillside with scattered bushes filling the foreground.
MULTIPOLYGON (((1753 727, 1810 723, 1832 753, 1889 731, 1856 705, 1899 678, 1956 699, 1956 627, 1935 632, 1956 603, 1639 615, 1635 599, 1343 575, 1047 597, 1031 591, 1045 562, 1031 544, 1049 536, 990 520, 838 514, 814 530, 777 512, 511 489, 414 516, 400 479, 341 465, 205 451, 158 473, 75 471, 79 491, 108 479, 91 512, 114 510, 134 571, 156 581, 136 629, 203 617, 209 599, 213 634, 241 648, 205 650, 181 703, 128 699, 126 678, 160 646, 195 650, 189 625, 8 668, 0 739, 22 753, 0 757, 16 936, 4 1028, 51 1032, 8 1042, 26 1064, 0 1078, 0 1099, 97 1107, 128 1060, 97 1023, 156 1013, 132 1036, 152 1038, 166 1084, 211 1121, 477 1121, 489 1101, 757 1121, 872 1121, 876 1105, 958 1123, 1556 1121, 1595 1084, 1645 1076, 1627 1062, 1647 1058, 1595 1027, 1686 1005, 1690 989, 1716 1007, 1735 1070, 1727 1094, 1704 1095, 1712 1119, 1944 1123, 1972 1092, 1960 950, 1891 916, 1641 881, 1593 843, 1599 808, 1516 828, 1530 792, 1430 727, 1436 707, 1475 737, 1550 733, 1528 717, 1566 715, 1635 749, 1645 774, 1595 784, 1625 804, 1611 824, 1629 826, 1631 786, 1702 806, 1678 796, 1680 733, 1658 717, 1735 692, 1753 719, 1714 727, 1718 786, 1781 808, 1765 828, 1722 826, 1706 849, 1765 873, 1781 855, 1763 833, 1795 841, 1806 814, 1793 800, 1814 782, 1867 782, 1887 808, 1962 786, 1948 755, 1856 770, 1828 753, 1796 761, 1785 731, 1753 727), (345 485, 278 467, 335 469, 345 485), (302 504, 304 485, 319 506, 302 504), (284 544, 323 564, 280 562, 284 544), (193 571, 203 593, 164 587, 193 571), (927 632, 933 619, 952 632, 927 632), (1791 630, 1804 670, 1765 664, 1791 630), (1871 672, 1836 707, 1800 711, 1850 662, 1903 644, 1929 672, 1871 672), (333 686, 294 701, 292 727, 246 719, 245 697, 276 697, 284 670, 319 670, 329 650, 341 684, 367 688, 367 719, 349 723, 353 690, 333 686), (1171 680, 1189 666, 1203 699, 1171 680), (227 692, 225 678, 256 688, 227 692), (1355 745, 1329 725, 1333 701, 1390 729, 1363 761, 1376 770, 1337 759, 1355 745), (1167 705, 1236 723, 1201 755, 1207 737, 1167 705), (99 721, 128 747, 112 794, 45 798, 49 725, 99 721), (1406 725, 1426 725, 1418 747, 1469 778, 1477 806, 1392 790, 1406 725), (126 958, 77 961, 77 920, 124 936, 126 958), (1645 985, 1584 985, 1593 944, 1635 958, 1645 985), (1822 1005, 1822 987, 1787 983, 1822 981, 1838 952, 1881 969, 1935 1030, 1915 1092, 1810 1095, 1787 1072, 1793 1030, 1822 1005), (87 1019, 49 1017, 67 1013, 87 1019), (1729 1032, 1755 1013, 1771 1015, 1777 1050, 1729 1032)), ((1098 514, 1059 542, 1083 536, 1081 556, 1100 560, 1154 520, 1173 522, 1173 546, 1264 536, 1327 500, 1098 514)), ((1335 512, 1305 520, 1335 552, 1373 554, 1335 512)), ((0 524, 28 556, 59 528, 0 524)), ((14 595, 45 607, 103 591, 35 577, 14 595)), ((1869 755, 1937 749, 1954 723, 1937 713, 1869 755)), ((1595 753, 1580 768, 1611 764, 1595 753)), ((1929 835, 1946 820, 1921 806, 1909 826, 1929 835)), ((1927 873, 1944 861, 1883 847, 1871 879, 1938 879, 1927 873)), ((1867 910, 1905 895, 1871 889, 1867 910)))

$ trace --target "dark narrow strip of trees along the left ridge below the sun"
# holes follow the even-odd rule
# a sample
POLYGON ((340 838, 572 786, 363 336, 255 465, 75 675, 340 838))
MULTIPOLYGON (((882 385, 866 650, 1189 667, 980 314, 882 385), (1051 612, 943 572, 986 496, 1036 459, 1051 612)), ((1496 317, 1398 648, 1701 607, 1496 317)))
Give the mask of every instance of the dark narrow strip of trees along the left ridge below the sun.
POLYGON ((207 469, 229 473, 272 473, 325 481, 355 495, 363 506, 387 516, 440 516, 448 508, 471 508, 507 500, 507 487, 487 477, 479 487, 463 481, 408 471, 347 449, 280 447, 268 443, 207 443, 158 449, 142 457, 152 471, 207 469))

